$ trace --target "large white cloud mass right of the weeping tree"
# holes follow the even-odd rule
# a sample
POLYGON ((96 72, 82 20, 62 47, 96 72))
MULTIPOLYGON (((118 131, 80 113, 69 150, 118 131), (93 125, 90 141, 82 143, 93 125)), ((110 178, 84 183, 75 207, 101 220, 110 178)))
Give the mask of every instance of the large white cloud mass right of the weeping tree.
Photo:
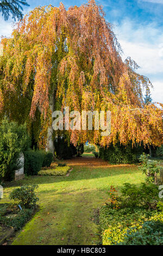
POLYGON ((155 102, 163 102, 163 34, 154 23, 146 26, 137 25, 134 21, 123 20, 115 26, 114 32, 123 49, 122 58, 130 56, 139 64, 139 73, 152 80, 155 102))

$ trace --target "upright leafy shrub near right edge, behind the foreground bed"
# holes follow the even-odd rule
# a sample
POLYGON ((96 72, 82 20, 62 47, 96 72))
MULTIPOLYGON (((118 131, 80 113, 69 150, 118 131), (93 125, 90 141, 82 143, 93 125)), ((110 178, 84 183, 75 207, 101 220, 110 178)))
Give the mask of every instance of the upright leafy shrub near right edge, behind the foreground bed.
POLYGON ((160 169, 157 167, 157 162, 154 160, 149 160, 149 154, 141 154, 139 160, 141 162, 141 166, 139 168, 142 170, 144 174, 146 174, 146 181, 149 183, 157 183, 156 175, 160 173, 160 169))

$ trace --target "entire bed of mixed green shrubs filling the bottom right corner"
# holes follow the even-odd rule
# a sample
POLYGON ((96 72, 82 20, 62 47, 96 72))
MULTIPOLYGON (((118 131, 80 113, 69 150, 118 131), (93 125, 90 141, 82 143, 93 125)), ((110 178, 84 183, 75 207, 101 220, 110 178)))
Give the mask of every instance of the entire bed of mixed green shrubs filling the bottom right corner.
POLYGON ((126 183, 121 192, 118 196, 111 187, 109 204, 99 211, 103 245, 161 245, 163 211, 158 212, 156 206, 163 208, 158 187, 126 183), (160 237, 155 239, 154 234, 160 237))

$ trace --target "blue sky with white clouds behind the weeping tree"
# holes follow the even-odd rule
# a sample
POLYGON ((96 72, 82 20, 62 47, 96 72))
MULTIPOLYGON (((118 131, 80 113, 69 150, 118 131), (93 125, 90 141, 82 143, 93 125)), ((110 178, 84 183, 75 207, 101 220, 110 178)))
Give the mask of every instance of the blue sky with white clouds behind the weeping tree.
MULTIPOLYGON (((27 0, 30 7, 24 14, 38 5, 52 4, 55 0, 27 0)), ((62 0, 66 8, 81 5, 86 0, 62 0)), ((114 25, 114 32, 123 49, 122 58, 130 56, 141 67, 139 73, 151 79, 154 90, 152 98, 163 103, 163 0, 98 0, 103 5, 105 19, 114 25)), ((12 20, 5 22, 0 14, 0 36, 9 36, 12 20)))

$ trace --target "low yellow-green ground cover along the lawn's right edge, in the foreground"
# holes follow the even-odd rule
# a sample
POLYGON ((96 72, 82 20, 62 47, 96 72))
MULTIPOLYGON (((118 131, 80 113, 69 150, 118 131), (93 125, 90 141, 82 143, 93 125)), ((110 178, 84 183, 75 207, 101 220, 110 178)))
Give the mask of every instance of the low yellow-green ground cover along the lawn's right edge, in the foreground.
POLYGON ((135 230, 140 229, 143 222, 155 213, 156 211, 130 208, 110 209, 108 206, 103 206, 99 212, 103 245, 116 245, 123 242, 130 227, 135 227, 135 230))

